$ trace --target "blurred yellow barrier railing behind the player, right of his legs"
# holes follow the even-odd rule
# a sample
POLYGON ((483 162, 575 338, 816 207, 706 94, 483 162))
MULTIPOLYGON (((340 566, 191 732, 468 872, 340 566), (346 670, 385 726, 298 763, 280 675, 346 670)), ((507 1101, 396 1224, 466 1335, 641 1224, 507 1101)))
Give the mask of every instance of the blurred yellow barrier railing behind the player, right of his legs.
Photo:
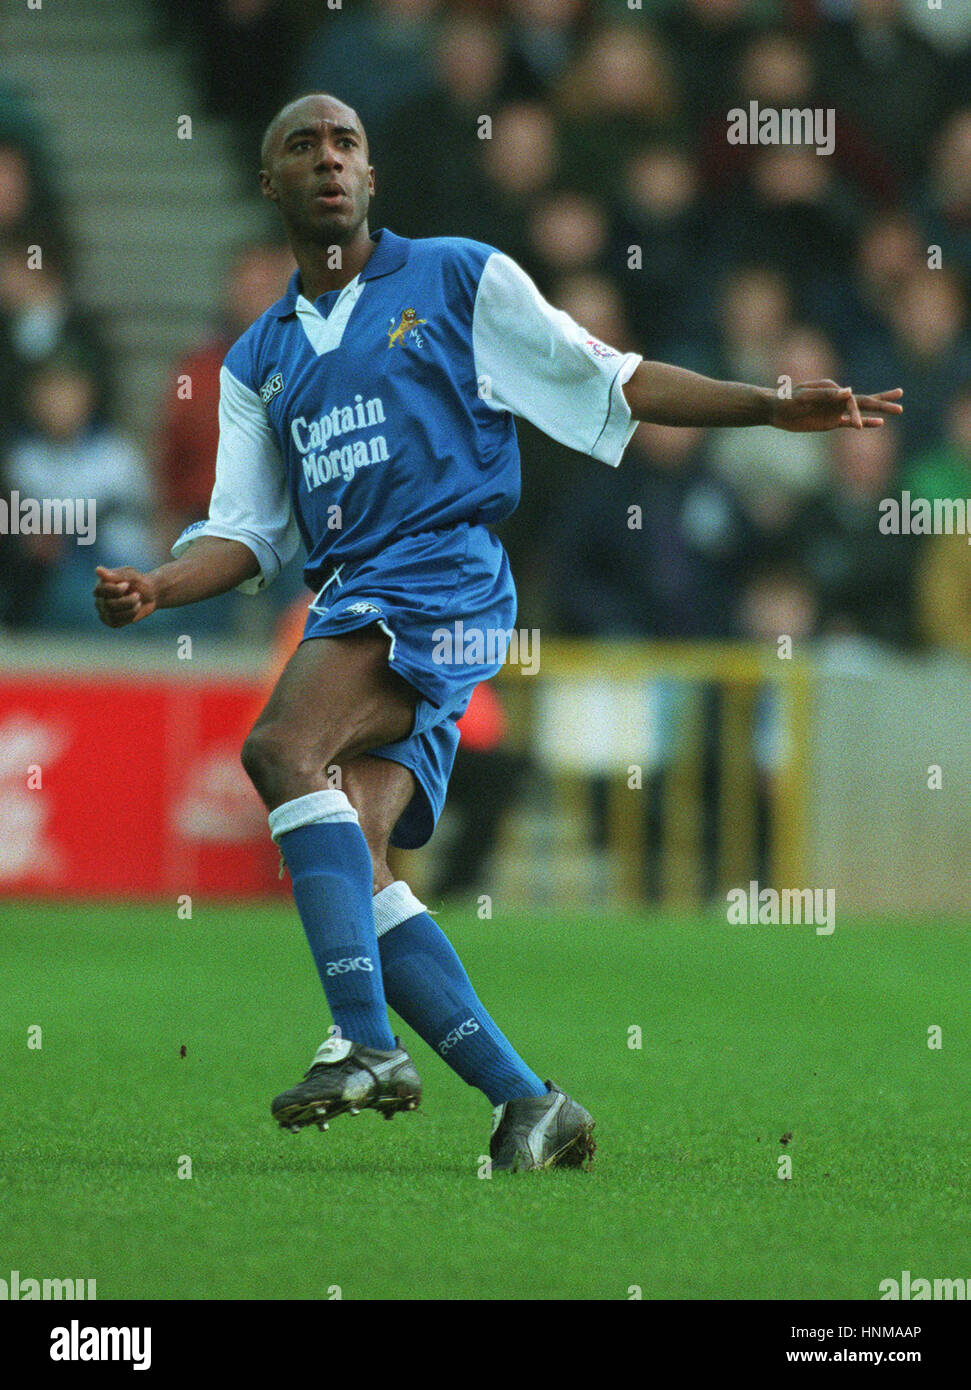
POLYGON ((535 676, 504 667, 499 681, 513 737, 539 753, 551 792, 545 856, 517 837, 515 816, 507 821, 500 860, 511 895, 535 901, 542 883, 561 905, 579 892, 611 905, 688 906, 756 877, 806 881, 806 663, 728 644, 550 639, 535 676), (583 752, 586 731, 574 721, 571 733, 571 691, 586 716, 603 705, 607 727, 595 731, 593 756, 583 752), (639 699, 652 706, 647 746, 629 731, 613 737, 617 696, 635 713, 639 699))

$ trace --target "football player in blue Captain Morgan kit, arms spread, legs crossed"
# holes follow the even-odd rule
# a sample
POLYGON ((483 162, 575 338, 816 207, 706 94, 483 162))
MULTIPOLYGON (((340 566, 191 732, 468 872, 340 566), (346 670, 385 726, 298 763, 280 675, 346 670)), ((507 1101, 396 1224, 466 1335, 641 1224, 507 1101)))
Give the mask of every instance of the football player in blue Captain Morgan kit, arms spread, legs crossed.
POLYGON ((99 569, 108 627, 272 582, 303 541, 304 637, 242 751, 333 1017, 304 1079, 272 1102, 290 1130, 414 1109, 421 1080, 389 1006, 495 1108, 495 1169, 579 1166, 593 1119, 543 1081, 486 1012, 442 930, 388 866, 442 812, 461 717, 515 621, 490 527, 520 496, 514 417, 617 467, 639 421, 875 428, 900 391, 771 389, 615 352, 553 309, 501 250, 371 232, 356 113, 285 106, 261 150, 297 270, 229 349, 208 518, 143 574, 99 569), (433 634, 481 632, 442 659, 433 634), (492 638, 492 639, 489 639, 492 638), (338 778, 332 769, 340 770, 338 778))

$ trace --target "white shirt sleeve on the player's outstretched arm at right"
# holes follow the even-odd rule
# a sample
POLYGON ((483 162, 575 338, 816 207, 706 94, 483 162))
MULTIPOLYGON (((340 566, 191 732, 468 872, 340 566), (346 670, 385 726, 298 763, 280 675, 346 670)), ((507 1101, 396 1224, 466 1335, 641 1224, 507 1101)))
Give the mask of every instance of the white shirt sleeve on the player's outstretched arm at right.
POLYGON ((642 359, 601 343, 553 309, 501 252, 485 264, 472 316, 482 399, 617 467, 638 421, 621 389, 642 359))

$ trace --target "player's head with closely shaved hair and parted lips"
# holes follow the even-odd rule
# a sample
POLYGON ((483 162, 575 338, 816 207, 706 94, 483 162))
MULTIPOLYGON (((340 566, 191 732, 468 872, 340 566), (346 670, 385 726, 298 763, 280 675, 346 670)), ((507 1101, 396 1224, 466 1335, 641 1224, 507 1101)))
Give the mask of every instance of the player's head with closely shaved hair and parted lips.
POLYGON ((350 107, 314 99, 283 113, 271 140, 263 192, 299 239, 346 242, 368 214, 374 170, 350 107))

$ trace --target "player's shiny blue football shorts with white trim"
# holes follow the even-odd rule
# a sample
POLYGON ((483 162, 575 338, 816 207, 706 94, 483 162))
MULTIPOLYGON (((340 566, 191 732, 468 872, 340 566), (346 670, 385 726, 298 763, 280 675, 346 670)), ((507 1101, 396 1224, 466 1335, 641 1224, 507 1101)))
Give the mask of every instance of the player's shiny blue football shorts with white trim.
POLYGON ((418 849, 442 815, 458 748, 457 720, 472 691, 503 664, 515 623, 508 557, 483 525, 401 537, 379 555, 338 566, 307 616, 303 641, 376 623, 390 638, 388 663, 418 691, 407 738, 370 748, 408 767, 417 790, 392 844, 418 849))

